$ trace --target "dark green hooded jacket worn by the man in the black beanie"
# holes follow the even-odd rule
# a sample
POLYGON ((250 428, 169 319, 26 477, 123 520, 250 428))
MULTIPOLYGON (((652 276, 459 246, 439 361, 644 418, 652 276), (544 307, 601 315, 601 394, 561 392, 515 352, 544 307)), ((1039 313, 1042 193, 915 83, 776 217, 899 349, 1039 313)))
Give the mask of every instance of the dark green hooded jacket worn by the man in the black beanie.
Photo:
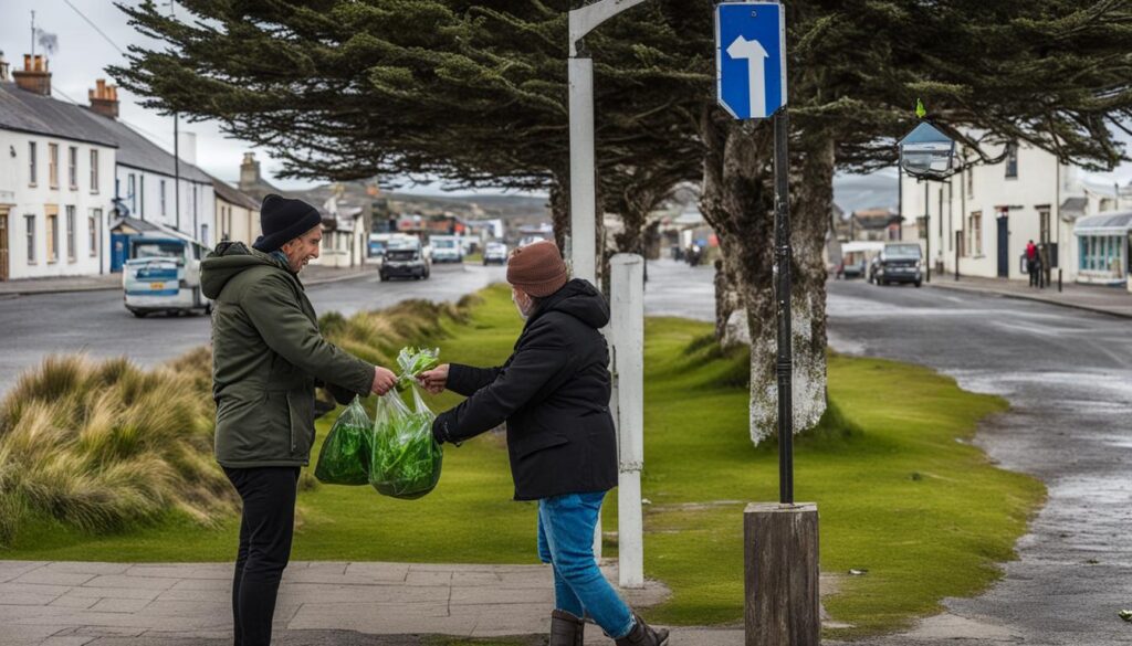
POLYGON ((306 466, 315 387, 346 403, 370 391, 374 367, 323 338, 299 277, 281 259, 223 242, 200 264, 213 304, 216 460, 306 466))

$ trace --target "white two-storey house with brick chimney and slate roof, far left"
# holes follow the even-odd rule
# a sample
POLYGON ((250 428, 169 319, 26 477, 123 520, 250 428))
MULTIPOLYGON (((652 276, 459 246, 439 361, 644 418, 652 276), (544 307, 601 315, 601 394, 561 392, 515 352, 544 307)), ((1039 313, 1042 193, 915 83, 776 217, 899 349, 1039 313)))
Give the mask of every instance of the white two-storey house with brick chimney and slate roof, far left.
POLYGON ((43 57, 0 59, 0 281, 110 270, 117 144, 51 98, 43 57))

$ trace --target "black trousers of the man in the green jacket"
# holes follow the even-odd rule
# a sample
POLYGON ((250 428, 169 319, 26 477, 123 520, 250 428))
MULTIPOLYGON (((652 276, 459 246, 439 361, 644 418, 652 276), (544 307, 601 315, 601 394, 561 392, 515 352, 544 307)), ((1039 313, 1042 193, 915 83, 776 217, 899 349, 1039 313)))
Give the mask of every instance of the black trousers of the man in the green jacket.
POLYGON ((268 646, 283 569, 291 558, 299 467, 224 468, 243 500, 232 582, 235 646, 268 646))

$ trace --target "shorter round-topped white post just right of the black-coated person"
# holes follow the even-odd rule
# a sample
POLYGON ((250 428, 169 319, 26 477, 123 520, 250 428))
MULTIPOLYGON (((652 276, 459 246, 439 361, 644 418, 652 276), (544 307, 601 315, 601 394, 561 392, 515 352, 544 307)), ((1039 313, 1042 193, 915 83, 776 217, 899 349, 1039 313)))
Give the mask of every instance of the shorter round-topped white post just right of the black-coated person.
POLYGON ((644 259, 618 253, 610 265, 617 374, 617 553, 619 585, 644 587, 644 259))

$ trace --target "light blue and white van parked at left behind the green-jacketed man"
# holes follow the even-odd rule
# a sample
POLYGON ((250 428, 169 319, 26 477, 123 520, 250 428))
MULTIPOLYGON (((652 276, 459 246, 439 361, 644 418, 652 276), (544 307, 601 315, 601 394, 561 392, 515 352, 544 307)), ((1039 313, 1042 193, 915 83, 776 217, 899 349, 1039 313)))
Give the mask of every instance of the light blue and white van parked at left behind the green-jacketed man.
POLYGON ((130 240, 122 267, 126 309, 138 318, 154 312, 212 311, 200 292, 200 258, 208 252, 191 240, 151 234, 130 240))

